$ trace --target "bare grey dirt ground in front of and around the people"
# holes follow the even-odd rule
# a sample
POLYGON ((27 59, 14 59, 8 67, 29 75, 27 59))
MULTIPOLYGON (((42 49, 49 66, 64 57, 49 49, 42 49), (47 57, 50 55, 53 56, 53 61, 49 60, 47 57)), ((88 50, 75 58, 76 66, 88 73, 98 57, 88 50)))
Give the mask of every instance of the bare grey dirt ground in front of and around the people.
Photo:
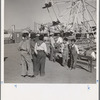
MULTIPOLYGON (((5 83, 96 83, 96 69, 92 73, 81 67, 75 70, 62 67, 58 62, 46 59, 45 76, 35 78, 21 77, 20 55, 17 50, 18 44, 4 45, 4 82, 5 83)), ((82 67, 88 69, 85 65, 82 67)))

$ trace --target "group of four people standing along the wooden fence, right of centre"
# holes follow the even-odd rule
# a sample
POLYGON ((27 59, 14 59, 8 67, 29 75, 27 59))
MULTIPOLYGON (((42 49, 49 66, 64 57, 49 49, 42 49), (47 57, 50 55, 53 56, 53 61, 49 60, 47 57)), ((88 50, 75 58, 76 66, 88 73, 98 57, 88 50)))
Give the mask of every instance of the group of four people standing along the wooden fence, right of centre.
POLYGON ((54 34, 50 34, 50 60, 55 61, 56 53, 62 54, 62 66, 67 66, 70 69, 75 68, 77 57, 79 54, 78 46, 75 44, 76 40, 73 38, 62 38, 58 34, 57 39, 54 39, 54 34))

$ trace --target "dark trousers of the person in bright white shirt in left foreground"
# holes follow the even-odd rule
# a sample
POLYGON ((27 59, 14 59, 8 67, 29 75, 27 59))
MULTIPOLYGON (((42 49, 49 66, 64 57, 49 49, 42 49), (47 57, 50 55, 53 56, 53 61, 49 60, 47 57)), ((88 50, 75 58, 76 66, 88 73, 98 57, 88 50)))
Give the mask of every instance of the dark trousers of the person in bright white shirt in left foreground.
POLYGON ((44 51, 38 51, 37 54, 37 66, 36 66, 36 72, 37 74, 40 72, 40 75, 45 75, 45 61, 46 61, 46 54, 44 51))

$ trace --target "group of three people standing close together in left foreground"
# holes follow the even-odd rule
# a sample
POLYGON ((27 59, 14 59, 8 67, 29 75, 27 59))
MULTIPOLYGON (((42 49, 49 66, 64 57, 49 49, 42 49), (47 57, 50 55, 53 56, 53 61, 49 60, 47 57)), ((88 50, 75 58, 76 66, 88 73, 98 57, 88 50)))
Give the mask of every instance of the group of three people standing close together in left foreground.
POLYGON ((28 31, 24 31, 18 50, 21 55, 21 76, 36 77, 39 74, 40 76, 45 75, 47 46, 43 35, 36 36, 34 33, 29 37, 28 31))

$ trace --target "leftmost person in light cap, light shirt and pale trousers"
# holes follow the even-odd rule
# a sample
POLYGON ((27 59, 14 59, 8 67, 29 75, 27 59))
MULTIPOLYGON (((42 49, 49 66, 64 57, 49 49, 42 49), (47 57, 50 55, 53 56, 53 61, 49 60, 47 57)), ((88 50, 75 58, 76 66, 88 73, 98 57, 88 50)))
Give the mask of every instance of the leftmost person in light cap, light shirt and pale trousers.
POLYGON ((30 53, 30 40, 29 40, 29 33, 24 32, 22 34, 23 40, 19 43, 18 50, 21 54, 21 65, 22 65, 22 74, 21 76, 29 76, 33 77, 33 64, 31 60, 31 53, 30 53))

